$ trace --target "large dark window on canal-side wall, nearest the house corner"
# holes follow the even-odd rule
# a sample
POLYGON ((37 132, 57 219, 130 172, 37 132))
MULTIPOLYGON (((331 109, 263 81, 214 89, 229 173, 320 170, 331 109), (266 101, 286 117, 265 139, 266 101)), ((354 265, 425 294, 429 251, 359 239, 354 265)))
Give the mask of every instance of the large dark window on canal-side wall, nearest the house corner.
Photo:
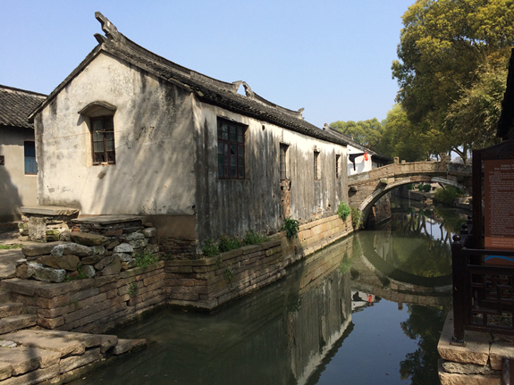
POLYGON ((217 119, 218 180, 246 178, 246 130, 248 126, 217 119), (233 130, 232 130, 233 129, 233 130))

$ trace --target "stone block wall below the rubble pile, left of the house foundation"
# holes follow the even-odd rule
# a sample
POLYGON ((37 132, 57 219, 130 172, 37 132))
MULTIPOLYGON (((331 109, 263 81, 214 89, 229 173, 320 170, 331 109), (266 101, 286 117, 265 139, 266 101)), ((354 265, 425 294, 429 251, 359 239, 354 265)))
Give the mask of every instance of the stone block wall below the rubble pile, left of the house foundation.
POLYGON ((165 304, 164 262, 94 279, 48 283, 2 280, 46 329, 105 332, 165 304))

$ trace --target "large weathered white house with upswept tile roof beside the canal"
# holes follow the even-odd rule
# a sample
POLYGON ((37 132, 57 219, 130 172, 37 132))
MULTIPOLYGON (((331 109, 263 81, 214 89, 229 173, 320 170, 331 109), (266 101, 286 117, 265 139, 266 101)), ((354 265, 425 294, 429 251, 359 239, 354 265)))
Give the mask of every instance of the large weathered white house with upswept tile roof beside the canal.
POLYGON ((347 140, 96 17, 105 36, 30 117, 39 205, 157 214, 160 235, 201 242, 310 222, 348 201, 347 140))

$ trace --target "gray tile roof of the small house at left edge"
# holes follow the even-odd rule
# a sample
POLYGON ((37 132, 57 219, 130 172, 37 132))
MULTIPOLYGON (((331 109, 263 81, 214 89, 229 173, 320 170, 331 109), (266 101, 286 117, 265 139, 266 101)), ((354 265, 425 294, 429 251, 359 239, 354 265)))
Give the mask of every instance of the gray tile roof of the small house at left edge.
POLYGON ((32 128, 29 114, 46 95, 0 85, 0 126, 32 128))

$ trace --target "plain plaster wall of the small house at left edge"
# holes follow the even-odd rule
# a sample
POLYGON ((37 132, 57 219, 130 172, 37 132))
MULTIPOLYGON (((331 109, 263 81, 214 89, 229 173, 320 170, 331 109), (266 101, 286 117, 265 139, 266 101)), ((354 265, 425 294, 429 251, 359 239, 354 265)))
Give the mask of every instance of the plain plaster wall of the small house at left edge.
POLYGON ((25 175, 23 142, 34 141, 34 130, 0 127, 0 222, 21 218, 21 205, 38 205, 37 175, 25 175))

